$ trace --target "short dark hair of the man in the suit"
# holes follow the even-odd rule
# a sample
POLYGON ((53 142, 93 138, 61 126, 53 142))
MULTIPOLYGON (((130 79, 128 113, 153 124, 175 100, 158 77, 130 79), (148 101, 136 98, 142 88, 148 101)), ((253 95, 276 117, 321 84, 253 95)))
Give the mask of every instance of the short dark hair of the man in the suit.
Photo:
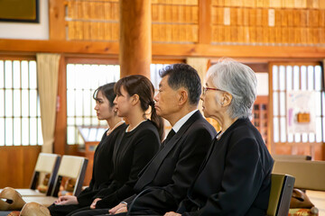
POLYGON ((190 99, 190 104, 197 105, 200 101, 201 84, 200 76, 193 67, 187 64, 174 64, 164 67, 159 71, 159 75, 168 77, 168 85, 173 90, 177 90, 180 87, 187 89, 190 99))

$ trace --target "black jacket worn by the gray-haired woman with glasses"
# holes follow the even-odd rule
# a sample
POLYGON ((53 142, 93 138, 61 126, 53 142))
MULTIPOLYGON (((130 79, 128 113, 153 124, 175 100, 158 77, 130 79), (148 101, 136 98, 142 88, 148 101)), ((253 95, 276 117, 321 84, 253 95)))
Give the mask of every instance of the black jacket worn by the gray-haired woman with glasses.
POLYGON ((265 215, 274 160, 258 130, 238 119, 219 140, 181 202, 182 215, 265 215))

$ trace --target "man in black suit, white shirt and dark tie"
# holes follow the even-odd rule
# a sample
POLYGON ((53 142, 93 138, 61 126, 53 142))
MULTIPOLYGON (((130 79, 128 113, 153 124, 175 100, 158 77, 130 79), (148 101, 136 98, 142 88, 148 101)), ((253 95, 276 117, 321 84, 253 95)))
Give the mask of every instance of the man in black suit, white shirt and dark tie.
POLYGON ((165 67, 159 93, 154 97, 158 115, 170 121, 172 130, 161 150, 144 168, 132 196, 109 210, 116 214, 163 214, 176 210, 210 148, 216 130, 206 121, 198 104, 201 85, 197 71, 185 64, 165 67), (174 134, 174 135, 173 135, 174 134), (130 204, 132 209, 130 209, 130 204))

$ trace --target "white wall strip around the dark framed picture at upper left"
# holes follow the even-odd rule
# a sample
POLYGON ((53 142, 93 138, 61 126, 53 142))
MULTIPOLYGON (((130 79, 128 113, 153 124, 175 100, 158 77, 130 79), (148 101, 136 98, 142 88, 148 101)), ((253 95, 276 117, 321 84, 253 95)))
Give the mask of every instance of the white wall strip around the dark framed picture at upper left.
POLYGON ((40 0, 40 23, 0 22, 0 39, 49 40, 49 0, 40 0))

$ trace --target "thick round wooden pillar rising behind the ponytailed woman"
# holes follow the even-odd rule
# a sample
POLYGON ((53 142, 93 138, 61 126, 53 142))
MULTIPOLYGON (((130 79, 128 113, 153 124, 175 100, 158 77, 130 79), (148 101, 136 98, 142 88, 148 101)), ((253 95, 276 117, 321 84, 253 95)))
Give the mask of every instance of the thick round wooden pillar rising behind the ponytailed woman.
POLYGON ((120 0, 119 2, 121 77, 139 74, 150 78, 151 0, 120 0))

